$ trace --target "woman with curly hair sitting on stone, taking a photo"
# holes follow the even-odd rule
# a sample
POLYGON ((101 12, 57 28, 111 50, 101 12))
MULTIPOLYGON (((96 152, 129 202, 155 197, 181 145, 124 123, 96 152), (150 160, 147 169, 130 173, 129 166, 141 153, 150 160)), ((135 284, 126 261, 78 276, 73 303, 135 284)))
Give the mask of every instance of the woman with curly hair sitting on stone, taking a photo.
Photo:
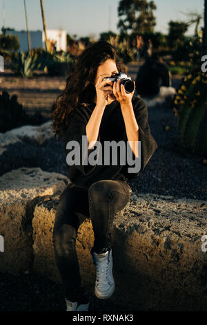
MULTIPOLYGON (((126 93, 120 82, 104 79, 120 73, 120 69, 113 46, 106 41, 92 44, 77 58, 66 89, 57 97, 55 111, 51 114, 56 136, 63 137, 66 149, 72 149, 71 144, 77 143, 81 161, 87 163, 72 165, 72 156, 67 156, 70 182, 59 198, 53 231, 55 258, 68 311, 88 310, 90 303, 81 286, 75 248, 79 225, 90 216, 95 235, 90 251, 96 268, 95 295, 106 299, 115 291, 111 248, 115 213, 129 201, 132 190, 128 179, 138 176, 157 149, 148 126, 144 101, 135 97, 134 92, 126 93), (132 141, 130 150, 133 158, 137 158, 137 143, 141 141, 140 170, 129 173, 128 163, 88 163, 82 151, 84 136, 87 137, 87 157, 95 152, 97 140, 101 144, 108 140, 122 140, 124 143, 132 141)), ((97 156, 107 156, 102 150, 99 146, 97 156)), ((79 156, 77 151, 75 154, 79 156)))

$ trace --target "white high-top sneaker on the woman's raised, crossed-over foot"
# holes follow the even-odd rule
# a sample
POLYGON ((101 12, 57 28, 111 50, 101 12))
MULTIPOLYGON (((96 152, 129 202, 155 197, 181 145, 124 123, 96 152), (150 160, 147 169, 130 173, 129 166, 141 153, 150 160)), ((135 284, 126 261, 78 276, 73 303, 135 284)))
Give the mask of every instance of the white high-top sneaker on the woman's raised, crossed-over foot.
POLYGON ((95 295, 99 299, 107 299, 115 291, 115 280, 112 275, 112 250, 106 253, 91 253, 92 262, 97 270, 95 295))

